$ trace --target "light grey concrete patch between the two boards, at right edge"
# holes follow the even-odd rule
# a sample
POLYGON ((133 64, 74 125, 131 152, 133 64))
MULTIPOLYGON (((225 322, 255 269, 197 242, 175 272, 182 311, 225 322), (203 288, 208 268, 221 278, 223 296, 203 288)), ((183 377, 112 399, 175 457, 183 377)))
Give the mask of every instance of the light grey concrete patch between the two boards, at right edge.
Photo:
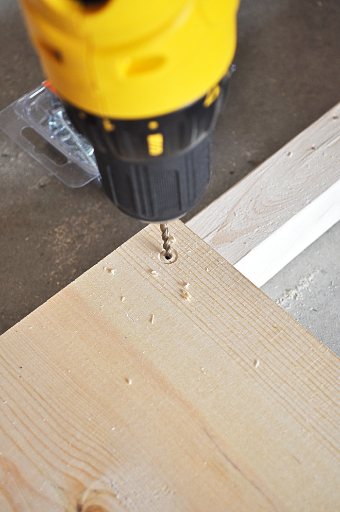
POLYGON ((340 222, 262 290, 340 357, 340 222))

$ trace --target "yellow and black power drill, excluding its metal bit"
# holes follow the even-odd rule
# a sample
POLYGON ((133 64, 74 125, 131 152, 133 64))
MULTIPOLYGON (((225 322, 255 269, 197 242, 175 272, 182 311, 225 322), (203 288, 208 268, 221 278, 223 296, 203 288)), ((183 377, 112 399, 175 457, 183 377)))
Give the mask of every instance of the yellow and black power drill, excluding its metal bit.
POLYGON ((126 214, 166 222, 202 197, 238 4, 22 0, 42 67, 126 214))

